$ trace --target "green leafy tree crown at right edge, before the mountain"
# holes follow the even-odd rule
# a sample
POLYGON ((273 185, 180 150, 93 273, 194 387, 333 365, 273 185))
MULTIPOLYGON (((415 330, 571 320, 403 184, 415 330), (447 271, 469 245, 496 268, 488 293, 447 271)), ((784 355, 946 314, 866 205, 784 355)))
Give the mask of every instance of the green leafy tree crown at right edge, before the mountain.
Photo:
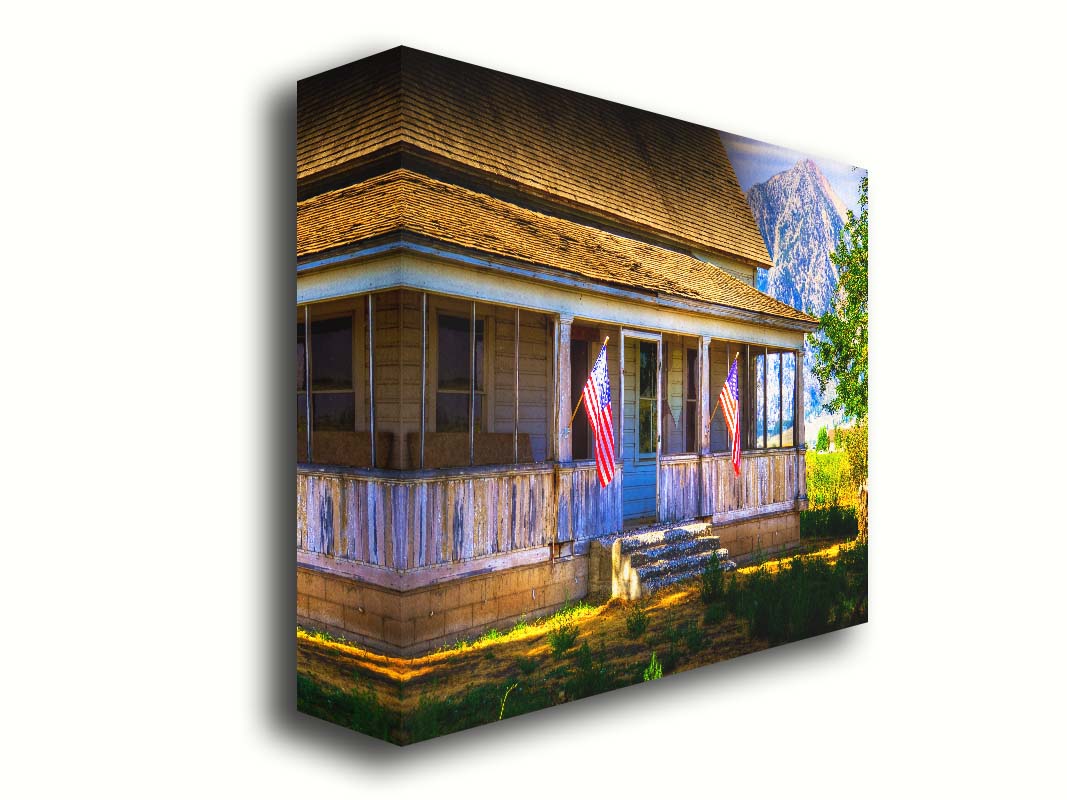
POLYGON ((831 414, 864 419, 867 413, 867 179, 860 180, 859 217, 847 212, 845 227, 830 260, 840 271, 833 308, 809 334, 814 352, 812 372, 821 391, 837 382, 837 394, 824 403, 831 414))

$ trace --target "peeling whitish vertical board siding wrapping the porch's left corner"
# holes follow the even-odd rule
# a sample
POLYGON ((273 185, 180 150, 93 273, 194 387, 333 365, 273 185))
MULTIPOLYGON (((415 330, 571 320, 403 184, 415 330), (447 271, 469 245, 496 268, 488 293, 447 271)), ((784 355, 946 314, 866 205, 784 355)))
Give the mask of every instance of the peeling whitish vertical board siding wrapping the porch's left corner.
POLYGON ((539 547, 555 534, 555 494, 552 467, 404 481, 298 471, 298 547, 393 570, 539 547))

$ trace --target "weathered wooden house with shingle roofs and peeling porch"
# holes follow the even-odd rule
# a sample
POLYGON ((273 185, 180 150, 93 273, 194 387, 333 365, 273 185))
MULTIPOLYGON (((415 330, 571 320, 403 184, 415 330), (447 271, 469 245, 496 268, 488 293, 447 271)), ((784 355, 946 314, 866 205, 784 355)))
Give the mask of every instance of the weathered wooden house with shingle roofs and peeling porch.
POLYGON ((414 654, 585 596, 591 544, 637 526, 798 540, 815 320, 754 288, 715 130, 408 48, 298 106, 301 624, 414 654), (571 415, 605 337, 601 489, 571 415))

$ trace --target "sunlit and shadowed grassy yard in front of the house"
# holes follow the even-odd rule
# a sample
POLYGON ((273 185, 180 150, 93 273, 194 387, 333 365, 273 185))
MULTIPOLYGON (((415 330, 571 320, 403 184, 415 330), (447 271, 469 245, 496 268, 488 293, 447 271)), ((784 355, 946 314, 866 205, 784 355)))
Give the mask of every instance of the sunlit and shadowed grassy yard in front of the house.
POLYGON ((514 717, 866 621, 866 545, 809 540, 665 589, 404 659, 298 629, 298 707, 396 743, 514 717))

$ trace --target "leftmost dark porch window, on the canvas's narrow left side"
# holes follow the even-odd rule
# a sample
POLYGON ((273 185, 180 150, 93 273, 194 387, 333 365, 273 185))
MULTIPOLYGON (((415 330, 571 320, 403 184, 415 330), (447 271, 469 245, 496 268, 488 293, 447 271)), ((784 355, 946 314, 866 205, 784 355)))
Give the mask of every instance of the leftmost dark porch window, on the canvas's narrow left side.
MULTIPOLYGON (((351 431, 355 428, 355 394, 352 387, 352 318, 312 322, 312 419, 316 431, 351 431)), ((300 418, 305 397, 305 332, 297 325, 297 397, 300 418)), ((306 425, 306 420, 303 420, 306 425)))

